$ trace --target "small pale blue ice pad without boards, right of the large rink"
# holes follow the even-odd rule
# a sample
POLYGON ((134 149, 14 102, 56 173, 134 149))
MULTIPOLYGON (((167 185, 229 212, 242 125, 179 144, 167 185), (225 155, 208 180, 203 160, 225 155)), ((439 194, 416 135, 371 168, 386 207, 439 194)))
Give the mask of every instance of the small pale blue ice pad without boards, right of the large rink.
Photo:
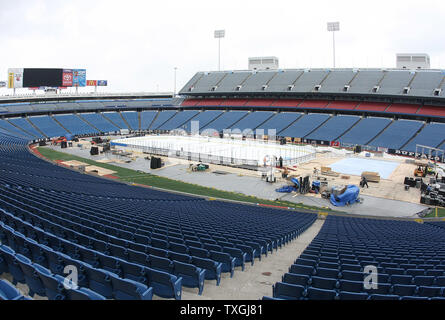
POLYGON ((378 172, 382 179, 388 179, 400 165, 397 162, 370 160, 361 158, 346 158, 331 165, 335 172, 361 176, 363 171, 378 172))

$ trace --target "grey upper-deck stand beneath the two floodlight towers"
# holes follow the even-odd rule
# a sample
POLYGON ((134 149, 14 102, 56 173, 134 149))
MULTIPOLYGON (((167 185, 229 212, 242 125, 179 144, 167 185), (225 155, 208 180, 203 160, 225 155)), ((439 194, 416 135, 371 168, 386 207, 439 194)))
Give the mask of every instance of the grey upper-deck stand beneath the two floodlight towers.
MULTIPOLYGON (((381 70, 381 69, 301 69, 264 71, 198 72, 180 91, 183 95, 212 92, 354 93, 366 95, 406 95, 434 97, 434 90, 443 82, 442 70, 381 70), (412 81, 412 82, 411 82, 412 81), (241 86, 241 87, 239 87, 241 86), (345 91, 345 86, 349 88, 345 91), (405 87, 410 86, 408 94, 405 87), (377 90, 373 90, 377 87, 377 90), (237 89, 239 88, 239 89, 237 89)), ((440 97, 443 97, 443 92, 440 97)))

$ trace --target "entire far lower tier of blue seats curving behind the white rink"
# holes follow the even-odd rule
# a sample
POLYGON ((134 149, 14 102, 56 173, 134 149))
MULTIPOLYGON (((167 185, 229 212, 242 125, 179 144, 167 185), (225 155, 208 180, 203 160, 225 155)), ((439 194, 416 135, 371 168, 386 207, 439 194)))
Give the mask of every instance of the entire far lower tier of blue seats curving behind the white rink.
MULTIPOLYGON (((82 135, 117 132, 120 129, 140 130, 141 128, 144 130, 186 130, 190 132, 192 121, 199 121, 200 132, 212 136, 226 129, 252 135, 262 130, 264 130, 264 134, 270 135, 272 134, 270 130, 274 130, 277 136, 305 138, 311 141, 340 141, 345 146, 360 144, 410 152, 415 152, 416 144, 438 147, 443 142, 445 133, 445 126, 440 123, 427 124, 425 128, 422 128, 424 124, 420 121, 397 120, 391 123, 386 118, 360 119, 357 116, 341 115, 330 117, 328 114, 301 116, 299 113, 274 114, 269 111, 252 113, 247 111, 224 113, 222 111, 198 112, 192 110, 181 112, 167 110, 159 113, 144 111, 141 113, 140 125, 137 112, 55 115, 54 119, 60 125, 50 116, 30 117, 29 121, 39 128, 46 137, 66 135, 67 130, 82 135), (286 118, 285 124, 278 121, 279 119, 283 120, 283 116, 286 118), (132 124, 124 121, 124 118, 128 121, 132 120, 132 124)), ((31 135, 34 139, 45 137, 24 118, 10 119, 10 121, 21 128, 24 135, 31 135)), ((6 125, 4 129, 10 130, 11 128, 6 125)), ((13 131, 16 130, 18 129, 13 128, 13 131)))

